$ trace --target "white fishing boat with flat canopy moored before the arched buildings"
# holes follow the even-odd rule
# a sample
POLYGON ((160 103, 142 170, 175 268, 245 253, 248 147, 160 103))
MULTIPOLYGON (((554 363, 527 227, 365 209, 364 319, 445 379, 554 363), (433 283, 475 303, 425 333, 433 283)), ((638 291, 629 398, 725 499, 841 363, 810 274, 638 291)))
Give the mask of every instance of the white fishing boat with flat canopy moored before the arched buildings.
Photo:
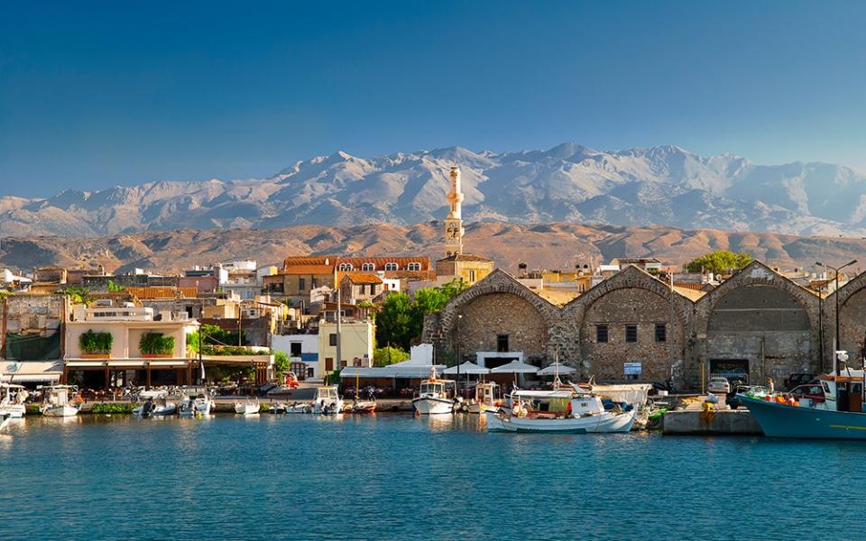
POLYGON ((488 432, 586 434, 629 432, 637 411, 607 411, 598 396, 570 389, 515 390, 510 411, 485 411, 484 416, 488 432))

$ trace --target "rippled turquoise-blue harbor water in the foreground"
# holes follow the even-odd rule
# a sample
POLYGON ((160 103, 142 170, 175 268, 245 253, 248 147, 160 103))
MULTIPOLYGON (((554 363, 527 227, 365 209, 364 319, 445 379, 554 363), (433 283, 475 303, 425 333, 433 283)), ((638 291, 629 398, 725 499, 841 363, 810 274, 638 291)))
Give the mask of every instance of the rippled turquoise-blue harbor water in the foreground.
POLYGON ((0 435, 0 538, 866 537, 863 444, 479 423, 29 417, 0 435))

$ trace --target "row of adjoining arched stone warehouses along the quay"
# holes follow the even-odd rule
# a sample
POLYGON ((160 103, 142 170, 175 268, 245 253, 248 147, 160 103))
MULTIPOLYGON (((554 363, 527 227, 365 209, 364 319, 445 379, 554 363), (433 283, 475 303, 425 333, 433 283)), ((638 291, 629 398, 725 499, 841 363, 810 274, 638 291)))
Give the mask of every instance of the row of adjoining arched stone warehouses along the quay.
POLYGON ((558 358, 599 381, 697 389, 712 373, 780 384, 791 373, 832 367, 836 294, 842 348, 859 366, 866 274, 821 298, 759 261, 708 293, 671 288, 630 266, 562 307, 497 270, 427 316, 423 340, 440 359, 457 355, 488 368, 558 358))

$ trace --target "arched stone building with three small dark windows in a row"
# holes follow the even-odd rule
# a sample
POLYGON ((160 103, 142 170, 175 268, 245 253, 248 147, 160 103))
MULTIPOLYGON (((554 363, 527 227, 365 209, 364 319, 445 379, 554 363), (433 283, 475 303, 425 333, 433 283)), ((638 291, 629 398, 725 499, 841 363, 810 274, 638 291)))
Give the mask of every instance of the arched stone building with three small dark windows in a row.
POLYGON ((690 299, 630 266, 563 307, 553 346, 584 377, 676 384, 691 308, 690 299))

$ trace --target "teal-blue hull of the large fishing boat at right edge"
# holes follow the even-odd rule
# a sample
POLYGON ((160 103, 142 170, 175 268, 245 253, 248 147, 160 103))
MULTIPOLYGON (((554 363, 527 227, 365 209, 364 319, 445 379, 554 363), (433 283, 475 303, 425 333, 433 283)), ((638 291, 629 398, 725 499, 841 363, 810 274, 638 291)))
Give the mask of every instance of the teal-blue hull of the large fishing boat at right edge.
POLYGON ((737 395, 765 436, 866 440, 866 414, 798 408, 737 395))

